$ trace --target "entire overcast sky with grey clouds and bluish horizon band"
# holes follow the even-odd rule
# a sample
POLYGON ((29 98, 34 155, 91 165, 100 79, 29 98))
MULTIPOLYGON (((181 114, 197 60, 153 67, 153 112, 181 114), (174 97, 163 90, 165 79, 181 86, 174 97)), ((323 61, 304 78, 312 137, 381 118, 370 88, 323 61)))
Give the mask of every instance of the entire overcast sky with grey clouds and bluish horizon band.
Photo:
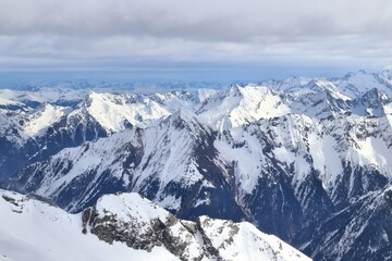
POLYGON ((1 72, 359 69, 392 69, 390 0, 0 0, 1 72))

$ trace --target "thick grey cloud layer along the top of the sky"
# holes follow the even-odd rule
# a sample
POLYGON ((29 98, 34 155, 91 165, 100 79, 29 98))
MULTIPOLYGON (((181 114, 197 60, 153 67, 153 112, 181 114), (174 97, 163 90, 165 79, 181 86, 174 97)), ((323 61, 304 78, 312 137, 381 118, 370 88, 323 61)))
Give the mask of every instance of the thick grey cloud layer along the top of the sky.
POLYGON ((252 40, 388 33, 389 0, 1 0, 0 34, 252 40))

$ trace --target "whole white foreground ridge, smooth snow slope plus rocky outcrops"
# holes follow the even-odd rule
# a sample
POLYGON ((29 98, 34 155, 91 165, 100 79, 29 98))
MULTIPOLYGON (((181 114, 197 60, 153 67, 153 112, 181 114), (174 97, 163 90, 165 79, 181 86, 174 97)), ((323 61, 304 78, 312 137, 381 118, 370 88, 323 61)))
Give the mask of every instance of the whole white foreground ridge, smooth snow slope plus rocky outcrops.
POLYGON ((137 194, 103 196, 79 214, 0 195, 4 260, 310 260, 249 223, 177 220, 137 194))

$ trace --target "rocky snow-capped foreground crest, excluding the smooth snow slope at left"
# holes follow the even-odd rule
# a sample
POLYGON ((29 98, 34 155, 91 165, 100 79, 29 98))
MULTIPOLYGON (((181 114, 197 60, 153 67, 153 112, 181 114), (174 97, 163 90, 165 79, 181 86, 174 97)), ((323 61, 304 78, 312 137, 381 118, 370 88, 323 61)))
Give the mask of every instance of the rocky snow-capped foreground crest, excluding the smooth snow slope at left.
POLYGON ((308 260, 249 223, 208 216, 196 222, 179 220, 136 194, 103 196, 83 212, 82 219, 83 233, 147 251, 164 246, 181 260, 308 260))

